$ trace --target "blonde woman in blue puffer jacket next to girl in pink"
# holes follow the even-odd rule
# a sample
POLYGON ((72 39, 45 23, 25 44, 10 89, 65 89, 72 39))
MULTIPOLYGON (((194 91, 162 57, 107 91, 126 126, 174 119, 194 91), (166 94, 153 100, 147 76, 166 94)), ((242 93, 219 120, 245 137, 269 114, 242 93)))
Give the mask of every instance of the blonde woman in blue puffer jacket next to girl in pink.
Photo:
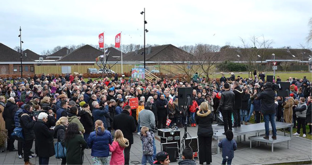
POLYGON ((95 131, 90 133, 88 146, 91 148, 91 158, 94 165, 110 164, 110 147, 113 143, 110 131, 105 130, 101 120, 95 121, 95 131))

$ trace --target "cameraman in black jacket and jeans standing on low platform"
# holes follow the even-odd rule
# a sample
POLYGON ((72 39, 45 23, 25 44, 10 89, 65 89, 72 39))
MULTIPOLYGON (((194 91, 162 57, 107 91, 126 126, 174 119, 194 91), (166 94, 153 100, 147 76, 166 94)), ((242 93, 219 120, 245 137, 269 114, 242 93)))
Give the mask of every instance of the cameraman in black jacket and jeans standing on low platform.
POLYGON ((258 95, 258 100, 261 100, 261 113, 263 114, 264 126, 266 128, 266 135, 264 139, 269 139, 269 121, 272 126, 272 139, 276 139, 275 127, 275 91, 272 89, 272 83, 266 83, 266 89, 258 95))

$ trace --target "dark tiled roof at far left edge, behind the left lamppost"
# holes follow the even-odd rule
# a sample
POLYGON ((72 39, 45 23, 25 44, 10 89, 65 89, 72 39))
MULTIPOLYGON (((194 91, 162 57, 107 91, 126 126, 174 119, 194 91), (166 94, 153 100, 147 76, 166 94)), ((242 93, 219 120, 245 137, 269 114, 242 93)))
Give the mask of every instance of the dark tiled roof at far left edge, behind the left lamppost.
MULTIPOLYGON (((19 62, 21 54, 10 47, 0 43, 0 62, 19 62)), ((33 61, 29 57, 23 56, 22 61, 33 61)))

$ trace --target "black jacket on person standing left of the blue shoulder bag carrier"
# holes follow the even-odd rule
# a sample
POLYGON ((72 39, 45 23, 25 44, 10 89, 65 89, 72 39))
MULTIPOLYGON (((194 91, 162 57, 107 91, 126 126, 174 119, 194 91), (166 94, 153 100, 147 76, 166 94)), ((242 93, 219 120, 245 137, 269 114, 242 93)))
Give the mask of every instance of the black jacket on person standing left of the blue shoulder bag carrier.
POLYGON ((2 117, 5 121, 5 129, 11 130, 15 128, 14 116, 17 111, 17 105, 11 101, 7 101, 5 104, 2 117))

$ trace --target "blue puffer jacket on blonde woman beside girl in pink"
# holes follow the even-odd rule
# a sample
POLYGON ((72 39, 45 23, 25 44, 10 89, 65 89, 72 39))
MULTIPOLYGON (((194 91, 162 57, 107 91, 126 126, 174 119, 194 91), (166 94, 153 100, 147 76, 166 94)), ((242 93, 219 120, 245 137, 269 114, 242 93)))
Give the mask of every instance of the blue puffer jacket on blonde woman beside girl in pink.
MULTIPOLYGON (((96 131, 96 130, 95 130, 96 131)), ((91 148, 91 156, 108 157, 110 156, 110 147, 113 143, 112 135, 109 131, 104 132, 98 128, 97 134, 93 131, 88 138, 88 146, 91 148)))

